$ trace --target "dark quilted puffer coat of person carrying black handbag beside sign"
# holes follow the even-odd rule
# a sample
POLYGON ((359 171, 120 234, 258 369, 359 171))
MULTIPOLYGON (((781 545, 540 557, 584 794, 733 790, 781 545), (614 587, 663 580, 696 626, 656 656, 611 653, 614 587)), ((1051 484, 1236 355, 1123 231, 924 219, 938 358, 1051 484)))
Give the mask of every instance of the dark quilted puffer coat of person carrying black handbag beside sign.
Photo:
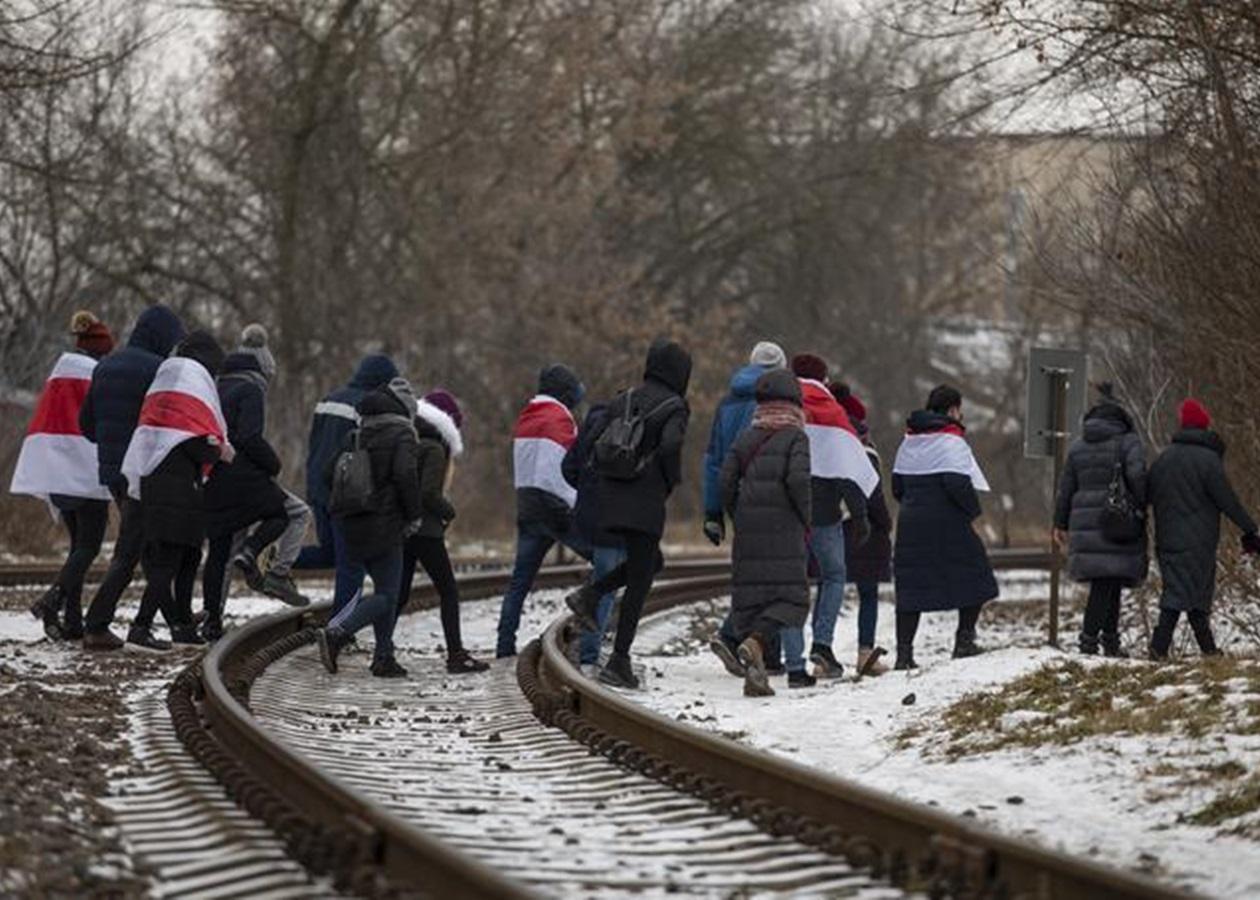
POLYGON ((1082 436, 1067 451, 1055 527, 1070 533, 1067 571, 1076 581, 1119 579, 1129 587, 1147 577, 1147 537, 1115 543, 1102 534, 1102 509, 1116 460, 1139 508, 1147 505, 1147 459, 1133 420, 1115 403, 1101 403, 1085 415, 1082 436))

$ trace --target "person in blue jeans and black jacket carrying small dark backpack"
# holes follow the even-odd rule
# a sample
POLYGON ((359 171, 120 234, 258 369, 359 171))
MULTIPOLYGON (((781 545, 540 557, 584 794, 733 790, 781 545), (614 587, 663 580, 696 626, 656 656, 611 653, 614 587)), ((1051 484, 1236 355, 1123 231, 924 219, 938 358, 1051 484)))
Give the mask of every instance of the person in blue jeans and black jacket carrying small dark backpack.
POLYGON ((372 674, 404 678, 407 669, 394 659, 393 630, 402 587, 402 545, 407 533, 421 527, 425 508, 420 492, 420 440, 416 436, 416 395, 406 378, 368 393, 358 406, 359 427, 345 436, 341 453, 328 464, 324 478, 333 500, 333 482, 343 454, 367 454, 369 495, 363 509, 338 516, 345 558, 372 577, 373 594, 358 591, 328 625, 316 632, 324 668, 335 673, 338 657, 357 632, 372 625, 375 648, 372 674))

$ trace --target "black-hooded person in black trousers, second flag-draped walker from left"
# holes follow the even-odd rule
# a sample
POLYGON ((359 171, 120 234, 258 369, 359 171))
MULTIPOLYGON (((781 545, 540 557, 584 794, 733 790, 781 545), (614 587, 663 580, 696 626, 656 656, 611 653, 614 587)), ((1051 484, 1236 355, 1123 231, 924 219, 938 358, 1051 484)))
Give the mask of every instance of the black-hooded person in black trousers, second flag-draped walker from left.
POLYGON ((145 546, 145 592, 127 643, 147 650, 170 644, 152 634, 163 610, 171 640, 202 644, 193 624, 193 586, 205 539, 204 483, 215 463, 234 451, 214 388, 223 350, 205 332, 193 332, 161 364, 140 410, 140 424, 122 474, 140 500, 145 546))

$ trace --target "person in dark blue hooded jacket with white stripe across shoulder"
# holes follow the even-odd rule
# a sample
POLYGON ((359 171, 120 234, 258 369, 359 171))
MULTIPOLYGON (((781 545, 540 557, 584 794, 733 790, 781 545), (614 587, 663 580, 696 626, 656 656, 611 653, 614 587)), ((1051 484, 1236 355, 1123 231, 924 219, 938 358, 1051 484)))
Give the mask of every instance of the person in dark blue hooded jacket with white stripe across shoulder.
POLYGON ((357 411, 363 398, 398 377, 398 367, 383 354, 373 353, 359 362, 350 383, 339 387, 315 406, 311 432, 306 441, 306 503, 315 513, 319 543, 304 547, 294 568, 336 567, 333 606, 340 611, 363 587, 364 570, 344 553, 333 517, 328 511, 329 483, 324 473, 345 447, 345 439, 359 425, 357 411))

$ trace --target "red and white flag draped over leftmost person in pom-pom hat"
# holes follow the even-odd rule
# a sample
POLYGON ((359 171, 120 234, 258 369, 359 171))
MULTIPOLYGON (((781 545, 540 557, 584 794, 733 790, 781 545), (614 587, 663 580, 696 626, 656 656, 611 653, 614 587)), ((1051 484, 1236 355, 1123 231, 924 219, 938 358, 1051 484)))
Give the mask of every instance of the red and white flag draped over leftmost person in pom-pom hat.
POLYGON ((26 426, 9 490, 48 500, 49 494, 108 500, 101 484, 96 445, 79 431, 78 413, 92 386, 96 361, 63 353, 53 366, 26 426))

